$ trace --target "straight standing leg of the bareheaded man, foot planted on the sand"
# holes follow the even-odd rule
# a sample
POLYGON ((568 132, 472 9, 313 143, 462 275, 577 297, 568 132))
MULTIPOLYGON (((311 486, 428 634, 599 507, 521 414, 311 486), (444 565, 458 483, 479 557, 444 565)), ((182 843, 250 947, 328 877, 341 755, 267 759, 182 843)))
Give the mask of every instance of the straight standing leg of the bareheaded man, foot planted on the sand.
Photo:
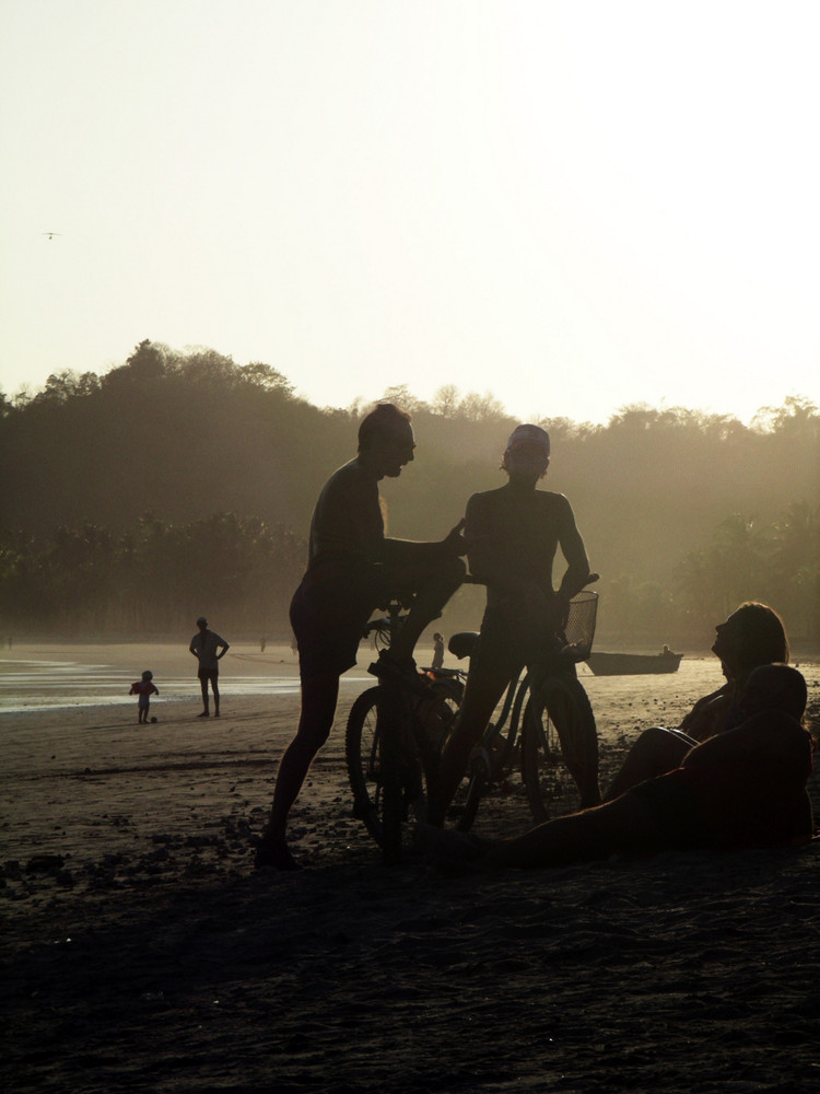
POLYGON ((288 815, 298 796, 314 756, 330 734, 338 698, 338 676, 314 676, 302 682, 298 729, 279 764, 270 819, 262 834, 262 846, 269 852, 257 853, 258 865, 277 865, 279 869, 295 866, 285 843, 288 815), (282 851, 280 858, 279 853, 282 851), (286 864, 289 860, 292 865, 286 864))

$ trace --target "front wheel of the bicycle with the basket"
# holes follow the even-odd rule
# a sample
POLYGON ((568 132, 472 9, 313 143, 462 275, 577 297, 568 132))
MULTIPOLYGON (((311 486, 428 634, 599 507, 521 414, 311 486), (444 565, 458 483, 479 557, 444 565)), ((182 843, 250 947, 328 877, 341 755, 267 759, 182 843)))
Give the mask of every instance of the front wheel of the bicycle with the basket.
POLYGON ((550 676, 530 694, 522 776, 539 824, 600 804, 595 715, 574 676, 550 676))

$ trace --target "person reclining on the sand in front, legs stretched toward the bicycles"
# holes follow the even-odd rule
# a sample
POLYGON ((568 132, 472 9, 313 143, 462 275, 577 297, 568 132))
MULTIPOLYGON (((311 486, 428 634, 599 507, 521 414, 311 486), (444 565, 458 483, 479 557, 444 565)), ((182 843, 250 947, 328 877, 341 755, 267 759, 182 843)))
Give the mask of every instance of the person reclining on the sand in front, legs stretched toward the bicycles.
POLYGON ((800 724, 806 680, 788 665, 748 679, 735 729, 695 745, 675 771, 614 801, 558 817, 523 836, 479 841, 424 827, 433 860, 472 870, 564 866, 660 851, 783 847, 811 839, 806 782, 815 742, 800 724))

